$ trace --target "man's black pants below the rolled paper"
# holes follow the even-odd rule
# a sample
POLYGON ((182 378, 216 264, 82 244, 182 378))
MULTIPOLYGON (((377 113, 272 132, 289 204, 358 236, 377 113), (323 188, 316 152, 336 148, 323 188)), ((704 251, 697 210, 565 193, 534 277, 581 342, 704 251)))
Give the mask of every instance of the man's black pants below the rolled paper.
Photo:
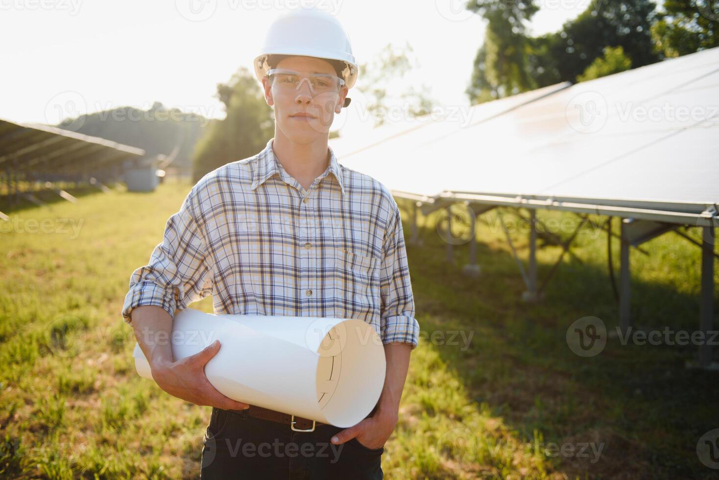
POLYGON ((250 417, 245 410, 212 409, 202 449, 202 479, 382 479, 385 448, 352 438, 334 445, 344 428, 290 425, 250 417))

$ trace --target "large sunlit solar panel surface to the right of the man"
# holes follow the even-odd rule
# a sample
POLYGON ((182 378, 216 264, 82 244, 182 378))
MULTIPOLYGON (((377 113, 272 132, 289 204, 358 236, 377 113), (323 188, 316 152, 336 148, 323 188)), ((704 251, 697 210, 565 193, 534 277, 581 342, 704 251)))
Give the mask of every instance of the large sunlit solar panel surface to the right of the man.
POLYGON ((520 196, 693 215, 719 203, 719 48, 482 103, 467 125, 410 123, 330 145, 340 163, 396 195, 520 196))

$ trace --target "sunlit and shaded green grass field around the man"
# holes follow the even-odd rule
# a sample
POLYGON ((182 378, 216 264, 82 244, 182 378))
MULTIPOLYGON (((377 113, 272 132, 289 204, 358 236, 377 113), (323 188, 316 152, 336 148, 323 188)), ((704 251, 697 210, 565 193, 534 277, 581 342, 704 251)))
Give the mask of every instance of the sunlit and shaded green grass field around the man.
MULTIPOLYGON (((119 315, 129 275, 147 263, 190 187, 75 189, 77 204, 0 204, 11 216, 0 233, 0 476, 199 475, 211 409, 137 376, 132 328, 119 315)), ((477 227, 477 278, 462 274, 466 245, 446 261, 438 214, 420 219, 422 244, 408 244, 423 335, 383 456, 388 479, 719 478, 697 457, 700 437, 719 428, 719 373, 684 367, 696 346, 612 339, 584 358, 567 345, 574 320, 617 325, 605 234, 578 235, 576 258, 564 257, 544 300, 522 303, 496 213, 477 227)), ((576 223, 539 213, 550 217, 576 223)), ((526 235, 513 241, 526 259, 526 235)), ((642 248, 649 255, 632 252, 636 323, 694 331, 700 250, 674 234, 642 248)), ((618 253, 615 242, 615 269, 618 253)), ((558 254, 557 246, 538 251, 540 278, 558 254)), ((211 298, 193 308, 211 312, 211 298)))

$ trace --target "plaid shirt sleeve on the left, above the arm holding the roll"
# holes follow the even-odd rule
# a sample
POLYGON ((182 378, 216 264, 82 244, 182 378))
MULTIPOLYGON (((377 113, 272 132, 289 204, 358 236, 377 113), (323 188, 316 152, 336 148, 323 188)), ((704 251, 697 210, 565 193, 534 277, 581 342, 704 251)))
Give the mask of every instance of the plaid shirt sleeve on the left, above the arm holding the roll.
POLYGON ((132 309, 143 305, 164 308, 174 318, 175 310, 211 294, 211 266, 196 221, 193 192, 194 188, 180 211, 168 219, 162 243, 155 246, 150 262, 132 273, 122 306, 125 322, 131 323, 132 309))

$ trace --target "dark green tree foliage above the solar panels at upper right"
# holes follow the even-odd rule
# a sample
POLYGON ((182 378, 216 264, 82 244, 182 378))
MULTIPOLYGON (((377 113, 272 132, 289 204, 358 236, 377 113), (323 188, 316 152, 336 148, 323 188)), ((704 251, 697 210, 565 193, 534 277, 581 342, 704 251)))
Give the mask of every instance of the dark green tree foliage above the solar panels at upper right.
POLYGON ((524 27, 538 10, 533 0, 470 1, 467 9, 487 20, 487 30, 467 96, 482 103, 719 46, 716 0, 664 1, 656 11, 651 0, 591 0, 558 32, 539 37, 524 27))

